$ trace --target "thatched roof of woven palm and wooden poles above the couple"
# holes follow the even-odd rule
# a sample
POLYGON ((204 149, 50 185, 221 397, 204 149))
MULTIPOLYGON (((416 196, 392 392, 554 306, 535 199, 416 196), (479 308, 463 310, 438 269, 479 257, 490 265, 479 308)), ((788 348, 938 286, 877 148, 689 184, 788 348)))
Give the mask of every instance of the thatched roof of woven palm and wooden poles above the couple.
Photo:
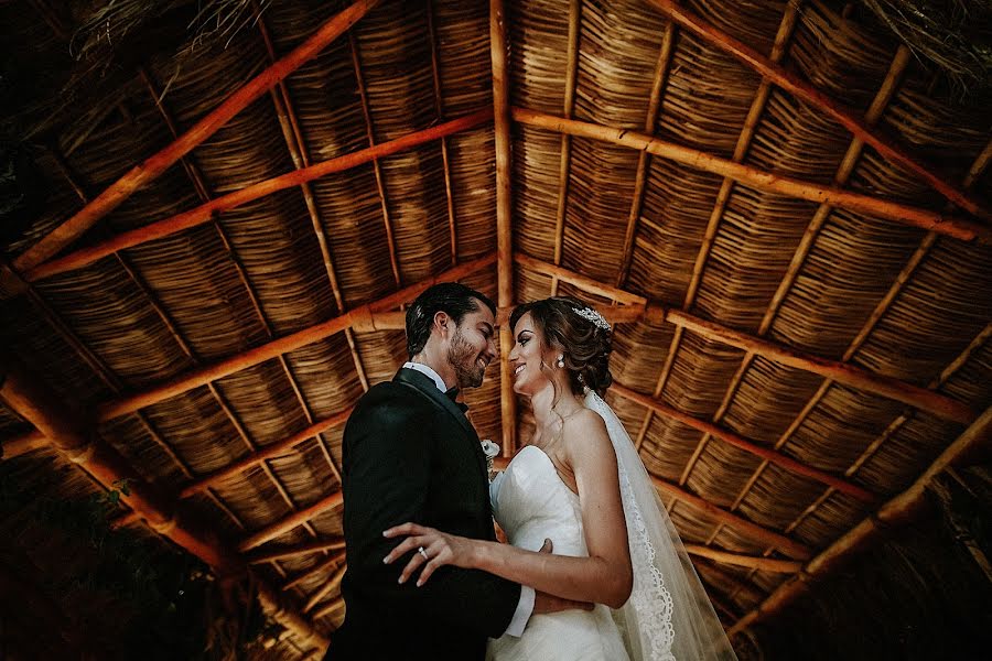
POLYGON ((988 12, 948 54, 891 1, 56 4, 0 3, 0 472, 250 567, 269 654, 343 617, 343 422, 432 282, 616 323, 742 654, 986 449, 988 12))

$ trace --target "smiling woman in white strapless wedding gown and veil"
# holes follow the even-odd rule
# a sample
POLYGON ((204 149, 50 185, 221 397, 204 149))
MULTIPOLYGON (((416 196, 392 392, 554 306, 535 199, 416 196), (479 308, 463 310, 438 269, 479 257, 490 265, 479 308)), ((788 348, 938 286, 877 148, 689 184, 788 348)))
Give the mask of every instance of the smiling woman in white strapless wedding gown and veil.
POLYGON ((385 562, 414 553, 423 585, 443 565, 483 570, 590 610, 533 615, 520 638, 490 640, 495 661, 736 659, 630 437, 601 394, 611 328, 569 297, 525 303, 510 316, 514 390, 535 430, 493 480, 493 512, 509 544, 405 523, 385 562), (553 554, 540 553, 546 539, 553 554), (428 560, 429 559, 429 560, 428 560))

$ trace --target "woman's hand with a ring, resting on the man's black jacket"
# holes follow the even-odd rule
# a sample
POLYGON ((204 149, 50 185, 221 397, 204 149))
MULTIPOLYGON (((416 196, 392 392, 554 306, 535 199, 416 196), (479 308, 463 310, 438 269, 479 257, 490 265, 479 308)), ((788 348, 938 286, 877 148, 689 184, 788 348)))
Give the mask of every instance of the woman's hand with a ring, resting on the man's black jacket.
POLYGON ((382 559, 384 563, 390 564, 410 551, 416 551, 400 574, 400 583, 409 581, 421 566, 423 566, 423 571, 417 579, 417 587, 427 583, 431 574, 444 565, 464 568, 474 566, 472 563, 475 540, 456 534, 448 534, 427 525, 418 525, 417 523, 403 523, 382 532, 382 537, 390 539, 403 535, 407 539, 382 559))

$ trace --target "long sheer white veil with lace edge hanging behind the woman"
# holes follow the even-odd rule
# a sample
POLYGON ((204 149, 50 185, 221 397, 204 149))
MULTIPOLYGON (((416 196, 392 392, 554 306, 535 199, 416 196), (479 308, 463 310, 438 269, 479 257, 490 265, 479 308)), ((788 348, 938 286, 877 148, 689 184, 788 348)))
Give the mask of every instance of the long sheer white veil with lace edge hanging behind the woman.
POLYGON ((634 590, 614 610, 633 661, 736 660, 692 563, 623 423, 594 391, 619 468, 634 590))

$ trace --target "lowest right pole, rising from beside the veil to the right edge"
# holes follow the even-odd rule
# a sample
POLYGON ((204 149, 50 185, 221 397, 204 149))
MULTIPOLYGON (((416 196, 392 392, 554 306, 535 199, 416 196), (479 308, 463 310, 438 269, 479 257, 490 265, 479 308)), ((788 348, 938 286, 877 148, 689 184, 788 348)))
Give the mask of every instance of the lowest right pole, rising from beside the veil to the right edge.
POLYGON ((858 553, 884 541, 886 532, 912 521, 926 505, 926 490, 930 483, 945 469, 969 458, 970 455, 988 453, 992 445, 992 407, 964 430, 950 447, 937 457, 908 489, 883 505, 877 512, 869 516, 851 528, 826 550, 807 563, 801 578, 788 581, 772 593, 757 608, 742 617, 727 631, 727 636, 738 633, 758 620, 768 618, 791 604, 808 589, 811 578, 823 576, 842 567, 858 553))

